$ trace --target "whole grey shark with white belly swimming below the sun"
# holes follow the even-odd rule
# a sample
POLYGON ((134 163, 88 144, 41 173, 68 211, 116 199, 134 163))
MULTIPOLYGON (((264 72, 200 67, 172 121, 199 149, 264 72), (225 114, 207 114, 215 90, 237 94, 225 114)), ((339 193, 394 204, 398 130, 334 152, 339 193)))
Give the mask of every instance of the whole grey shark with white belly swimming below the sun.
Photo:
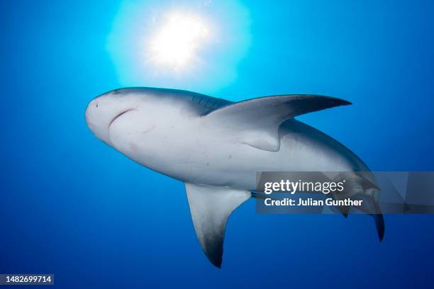
MULTIPOLYGON (((226 222, 252 196, 257 171, 354 171, 369 213, 379 190, 350 149, 295 120, 304 113, 350 104, 339 98, 282 95, 233 103, 191 91, 116 89, 87 106, 89 129, 135 162, 185 183, 196 236, 221 268, 226 222), (369 207, 369 208, 368 208, 369 207)), ((334 196, 337 197, 337 196, 334 196)), ((339 208, 344 216, 349 208, 339 208)), ((374 217, 380 240, 381 214, 374 217)))

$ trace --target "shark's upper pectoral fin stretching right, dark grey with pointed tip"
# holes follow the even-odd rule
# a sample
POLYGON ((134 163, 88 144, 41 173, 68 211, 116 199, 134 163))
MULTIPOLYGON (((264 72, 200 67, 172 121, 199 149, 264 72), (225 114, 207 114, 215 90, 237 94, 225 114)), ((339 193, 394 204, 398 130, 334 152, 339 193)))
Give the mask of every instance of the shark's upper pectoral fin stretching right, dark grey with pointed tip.
POLYGON ((232 130, 239 141, 258 149, 277 152, 279 125, 297 115, 351 104, 340 98, 294 94, 265 96, 229 104, 204 115, 208 123, 232 130))

